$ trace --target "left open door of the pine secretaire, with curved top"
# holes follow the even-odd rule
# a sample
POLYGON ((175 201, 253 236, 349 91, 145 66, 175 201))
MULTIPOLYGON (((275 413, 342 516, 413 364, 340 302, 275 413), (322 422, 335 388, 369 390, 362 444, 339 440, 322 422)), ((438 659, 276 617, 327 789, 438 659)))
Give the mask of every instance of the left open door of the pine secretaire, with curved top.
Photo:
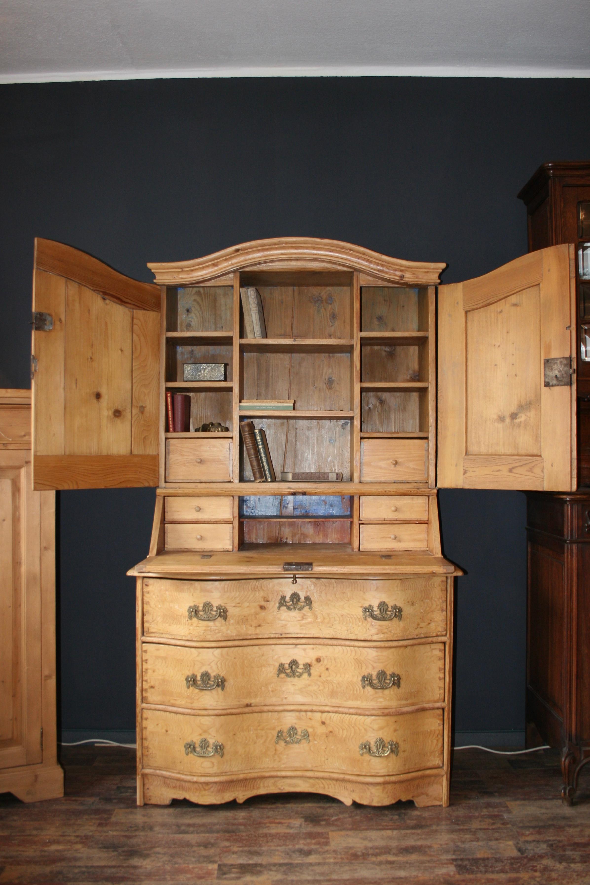
POLYGON ((34 241, 33 487, 157 486, 160 290, 34 241))

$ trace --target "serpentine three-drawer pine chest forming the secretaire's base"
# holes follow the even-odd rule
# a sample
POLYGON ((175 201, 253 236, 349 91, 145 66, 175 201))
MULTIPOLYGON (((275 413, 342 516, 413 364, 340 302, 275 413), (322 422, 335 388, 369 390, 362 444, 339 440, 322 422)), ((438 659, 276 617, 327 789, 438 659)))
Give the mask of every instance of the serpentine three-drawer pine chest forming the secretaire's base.
POLYGON ((140 581, 140 801, 444 804, 448 579, 140 581))

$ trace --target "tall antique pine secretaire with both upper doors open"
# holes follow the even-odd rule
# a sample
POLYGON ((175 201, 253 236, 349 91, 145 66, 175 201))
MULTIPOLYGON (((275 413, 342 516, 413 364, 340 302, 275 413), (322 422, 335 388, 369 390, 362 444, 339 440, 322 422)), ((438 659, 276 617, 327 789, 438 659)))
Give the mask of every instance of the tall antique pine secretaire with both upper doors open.
POLYGON ((436 488, 576 488, 570 247, 440 286, 438 308, 444 265, 331 240, 149 266, 157 285, 35 243, 34 488, 157 486, 129 572, 138 802, 448 804, 461 572, 436 488), (195 363, 223 380, 185 381, 195 363))

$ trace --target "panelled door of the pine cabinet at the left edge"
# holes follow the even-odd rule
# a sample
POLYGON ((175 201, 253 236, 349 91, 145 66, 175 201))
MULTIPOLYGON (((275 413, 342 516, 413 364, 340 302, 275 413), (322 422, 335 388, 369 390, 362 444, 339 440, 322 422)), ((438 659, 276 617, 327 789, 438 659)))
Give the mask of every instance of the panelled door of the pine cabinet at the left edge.
POLYGON ((0 454, 0 768, 42 761, 41 496, 26 450, 0 454))

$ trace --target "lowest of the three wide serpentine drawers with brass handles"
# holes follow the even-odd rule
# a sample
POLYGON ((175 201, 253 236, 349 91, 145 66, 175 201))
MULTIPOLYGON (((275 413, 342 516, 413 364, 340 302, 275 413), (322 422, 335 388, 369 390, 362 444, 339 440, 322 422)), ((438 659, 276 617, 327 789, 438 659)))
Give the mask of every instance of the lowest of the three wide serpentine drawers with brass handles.
POLYGON ((202 777, 317 771, 379 778, 442 766, 442 711, 395 716, 143 711, 143 766, 202 777))

